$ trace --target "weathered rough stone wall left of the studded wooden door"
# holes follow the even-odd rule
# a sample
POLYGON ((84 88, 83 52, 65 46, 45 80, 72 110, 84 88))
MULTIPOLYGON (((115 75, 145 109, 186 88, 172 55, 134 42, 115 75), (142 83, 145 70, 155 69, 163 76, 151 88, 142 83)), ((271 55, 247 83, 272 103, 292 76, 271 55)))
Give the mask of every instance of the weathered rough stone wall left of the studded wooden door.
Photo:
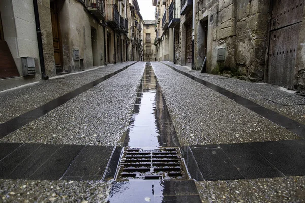
POLYGON ((201 68, 207 35, 207 72, 262 81, 268 41, 269 1, 199 0, 196 5, 195 66, 201 68), (207 33, 203 27, 208 21, 207 33), (217 61, 219 48, 225 60, 217 61))

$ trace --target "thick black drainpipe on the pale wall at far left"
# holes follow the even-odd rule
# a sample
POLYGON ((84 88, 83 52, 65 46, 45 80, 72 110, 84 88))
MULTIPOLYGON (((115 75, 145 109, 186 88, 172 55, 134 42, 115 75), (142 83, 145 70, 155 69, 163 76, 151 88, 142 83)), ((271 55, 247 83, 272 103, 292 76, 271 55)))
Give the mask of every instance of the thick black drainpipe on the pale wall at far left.
POLYGON ((48 80, 49 76, 46 75, 45 63, 44 63, 44 57, 43 57, 43 46, 42 46, 42 39, 41 39, 41 30, 40 30, 37 0, 33 0, 33 7, 34 7, 34 16, 35 16, 35 24, 36 24, 36 35, 37 35, 37 44, 38 44, 38 52, 39 52, 41 78, 43 80, 48 80))

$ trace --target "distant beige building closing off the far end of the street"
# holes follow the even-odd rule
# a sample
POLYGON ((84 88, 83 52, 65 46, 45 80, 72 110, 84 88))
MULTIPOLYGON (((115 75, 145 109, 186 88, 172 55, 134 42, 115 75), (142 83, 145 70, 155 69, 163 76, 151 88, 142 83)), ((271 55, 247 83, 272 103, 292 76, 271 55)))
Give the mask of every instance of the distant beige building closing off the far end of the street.
POLYGON ((155 20, 144 20, 144 61, 155 61, 156 59, 156 47, 154 45, 156 38, 155 26, 155 20))

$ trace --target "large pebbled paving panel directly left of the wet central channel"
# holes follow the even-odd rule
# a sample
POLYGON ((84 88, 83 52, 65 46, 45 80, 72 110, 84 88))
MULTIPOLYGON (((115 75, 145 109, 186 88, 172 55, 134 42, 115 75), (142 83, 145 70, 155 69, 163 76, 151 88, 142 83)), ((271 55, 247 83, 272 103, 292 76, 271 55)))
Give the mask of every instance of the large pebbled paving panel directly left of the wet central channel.
POLYGON ((145 62, 130 66, 0 142, 120 145, 144 67, 145 62))

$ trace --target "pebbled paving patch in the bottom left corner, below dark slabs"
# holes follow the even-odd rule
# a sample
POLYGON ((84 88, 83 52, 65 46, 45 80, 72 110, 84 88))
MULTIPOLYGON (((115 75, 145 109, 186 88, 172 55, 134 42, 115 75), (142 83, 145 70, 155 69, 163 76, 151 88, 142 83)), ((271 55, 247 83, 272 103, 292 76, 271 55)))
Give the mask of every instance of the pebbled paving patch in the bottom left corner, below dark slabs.
POLYGON ((0 202, 106 202, 111 184, 0 179, 0 202))

